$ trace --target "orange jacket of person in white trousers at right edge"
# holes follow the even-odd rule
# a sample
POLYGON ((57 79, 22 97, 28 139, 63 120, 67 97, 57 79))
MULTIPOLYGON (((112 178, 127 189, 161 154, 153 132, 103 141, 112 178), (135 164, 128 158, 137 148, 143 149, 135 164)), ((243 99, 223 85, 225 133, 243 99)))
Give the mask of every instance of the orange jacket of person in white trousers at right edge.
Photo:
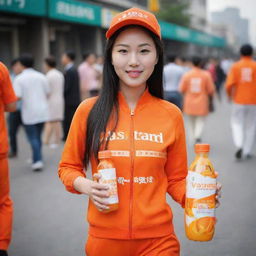
POLYGON ((256 104, 256 62, 242 57, 236 62, 226 80, 227 94, 237 104, 256 104))

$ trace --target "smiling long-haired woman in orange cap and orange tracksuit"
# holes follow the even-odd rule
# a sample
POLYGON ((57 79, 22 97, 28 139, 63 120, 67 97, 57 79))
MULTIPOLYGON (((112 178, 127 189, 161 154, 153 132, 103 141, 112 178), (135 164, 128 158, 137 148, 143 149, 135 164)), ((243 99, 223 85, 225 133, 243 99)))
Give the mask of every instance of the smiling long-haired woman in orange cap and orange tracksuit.
POLYGON ((76 111, 60 179, 90 198, 86 255, 179 255, 166 193, 184 207, 186 143, 181 111, 162 100, 160 26, 131 8, 113 18, 106 37, 102 91, 76 111), (118 177, 119 209, 111 213, 102 212, 108 187, 96 182, 105 149, 118 177), (84 172, 89 162, 94 180, 84 172))

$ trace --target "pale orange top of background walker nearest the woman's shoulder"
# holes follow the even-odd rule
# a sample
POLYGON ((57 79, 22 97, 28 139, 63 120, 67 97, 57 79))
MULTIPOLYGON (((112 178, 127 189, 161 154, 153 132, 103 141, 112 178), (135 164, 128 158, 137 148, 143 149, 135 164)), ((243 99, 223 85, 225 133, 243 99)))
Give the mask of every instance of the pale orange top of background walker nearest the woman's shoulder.
POLYGON ((214 94, 215 86, 208 71, 194 67, 183 76, 179 90, 184 94, 185 114, 205 116, 209 113, 209 95, 214 94))

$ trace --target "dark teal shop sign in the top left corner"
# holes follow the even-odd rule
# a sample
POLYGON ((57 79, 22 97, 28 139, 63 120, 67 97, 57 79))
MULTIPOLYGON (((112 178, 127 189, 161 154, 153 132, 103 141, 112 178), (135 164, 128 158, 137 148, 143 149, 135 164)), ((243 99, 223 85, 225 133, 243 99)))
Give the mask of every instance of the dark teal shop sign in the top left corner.
POLYGON ((0 11, 45 16, 46 0, 0 0, 0 11))

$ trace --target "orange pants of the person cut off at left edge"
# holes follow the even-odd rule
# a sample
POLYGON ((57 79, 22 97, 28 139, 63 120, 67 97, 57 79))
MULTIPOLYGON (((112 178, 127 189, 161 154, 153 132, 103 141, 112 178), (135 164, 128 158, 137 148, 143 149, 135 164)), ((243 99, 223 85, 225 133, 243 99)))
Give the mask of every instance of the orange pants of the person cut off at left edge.
POLYGON ((0 250, 11 242, 13 205, 10 198, 8 159, 0 159, 0 250))

